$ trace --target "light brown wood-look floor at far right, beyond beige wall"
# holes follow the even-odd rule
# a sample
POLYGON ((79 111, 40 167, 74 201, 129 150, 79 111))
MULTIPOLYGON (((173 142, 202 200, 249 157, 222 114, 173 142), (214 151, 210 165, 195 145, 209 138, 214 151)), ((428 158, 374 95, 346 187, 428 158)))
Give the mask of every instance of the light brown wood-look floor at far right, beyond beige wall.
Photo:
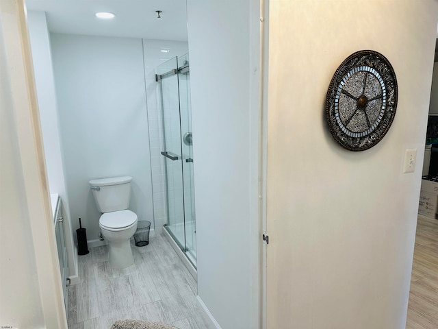
POLYGON ((437 219, 418 217, 406 328, 438 328, 437 219))

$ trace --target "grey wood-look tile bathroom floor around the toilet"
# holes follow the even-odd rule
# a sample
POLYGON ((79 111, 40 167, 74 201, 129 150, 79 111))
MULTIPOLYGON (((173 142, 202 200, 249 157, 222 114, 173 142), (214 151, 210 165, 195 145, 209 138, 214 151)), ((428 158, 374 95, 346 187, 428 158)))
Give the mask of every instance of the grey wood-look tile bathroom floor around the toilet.
POLYGON ((79 257, 79 283, 68 291, 68 328, 110 329, 120 319, 172 324, 180 329, 214 329, 196 301, 196 281, 168 241, 133 245, 135 262, 113 269, 107 245, 79 257))

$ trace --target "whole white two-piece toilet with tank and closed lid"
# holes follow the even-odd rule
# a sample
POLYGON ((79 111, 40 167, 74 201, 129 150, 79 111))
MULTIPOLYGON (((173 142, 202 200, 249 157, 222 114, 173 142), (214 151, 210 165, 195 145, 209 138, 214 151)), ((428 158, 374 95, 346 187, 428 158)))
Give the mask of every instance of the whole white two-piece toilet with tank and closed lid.
POLYGON ((99 227, 110 245, 108 261, 116 269, 124 269, 134 263, 131 237, 137 230, 137 215, 128 210, 131 199, 129 176, 90 180, 94 200, 99 212, 99 227))

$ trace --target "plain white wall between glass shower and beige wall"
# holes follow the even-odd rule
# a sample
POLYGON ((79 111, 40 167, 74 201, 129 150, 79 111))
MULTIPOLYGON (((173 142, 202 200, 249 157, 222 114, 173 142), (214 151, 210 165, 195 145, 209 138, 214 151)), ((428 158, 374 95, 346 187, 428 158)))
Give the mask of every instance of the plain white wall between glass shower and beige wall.
POLYGON ((252 4, 188 1, 198 295, 223 329, 259 328, 252 4))

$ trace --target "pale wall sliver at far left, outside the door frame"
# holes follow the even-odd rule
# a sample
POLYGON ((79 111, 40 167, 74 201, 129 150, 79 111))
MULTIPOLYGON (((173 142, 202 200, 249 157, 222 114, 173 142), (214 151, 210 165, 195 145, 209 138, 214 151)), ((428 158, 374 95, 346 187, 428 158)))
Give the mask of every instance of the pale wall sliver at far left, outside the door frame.
POLYGON ((44 319, 3 33, 0 25, 0 325, 38 328, 44 319))

